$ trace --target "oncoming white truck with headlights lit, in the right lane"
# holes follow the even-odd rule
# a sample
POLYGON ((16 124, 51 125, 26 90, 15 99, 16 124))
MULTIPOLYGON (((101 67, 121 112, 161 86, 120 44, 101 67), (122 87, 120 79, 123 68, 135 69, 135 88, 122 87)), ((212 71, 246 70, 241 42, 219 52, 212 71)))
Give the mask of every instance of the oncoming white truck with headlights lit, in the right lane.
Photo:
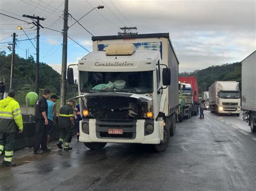
POLYGON ((239 116, 240 102, 239 82, 216 81, 209 87, 209 104, 212 113, 239 116))

